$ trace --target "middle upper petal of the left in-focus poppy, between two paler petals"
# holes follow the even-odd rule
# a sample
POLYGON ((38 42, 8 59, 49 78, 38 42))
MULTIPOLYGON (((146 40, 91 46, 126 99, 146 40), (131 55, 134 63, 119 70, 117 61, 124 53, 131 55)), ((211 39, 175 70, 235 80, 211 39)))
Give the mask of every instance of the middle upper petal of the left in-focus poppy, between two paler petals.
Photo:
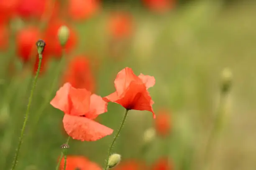
POLYGON ((72 108, 70 115, 84 115, 90 109, 91 92, 86 89, 76 89, 71 87, 69 90, 69 97, 72 101, 72 108))

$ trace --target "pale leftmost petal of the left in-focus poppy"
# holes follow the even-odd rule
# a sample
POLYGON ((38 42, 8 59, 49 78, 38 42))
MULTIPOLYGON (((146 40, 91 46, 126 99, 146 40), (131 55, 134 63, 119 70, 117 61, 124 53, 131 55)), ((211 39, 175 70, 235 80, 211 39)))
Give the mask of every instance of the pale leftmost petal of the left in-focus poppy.
POLYGON ((51 100, 50 104, 63 111, 64 113, 68 113, 70 110, 70 102, 69 102, 69 90, 71 88, 70 83, 65 83, 60 89, 56 92, 56 96, 53 100, 51 100))

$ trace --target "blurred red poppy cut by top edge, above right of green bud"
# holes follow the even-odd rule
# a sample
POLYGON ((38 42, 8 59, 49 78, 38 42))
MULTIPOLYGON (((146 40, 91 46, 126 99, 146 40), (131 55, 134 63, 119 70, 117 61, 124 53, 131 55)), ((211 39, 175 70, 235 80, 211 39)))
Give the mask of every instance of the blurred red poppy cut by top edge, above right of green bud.
POLYGON ((99 8, 99 0, 69 0, 68 13, 73 20, 84 20, 92 17, 99 8))

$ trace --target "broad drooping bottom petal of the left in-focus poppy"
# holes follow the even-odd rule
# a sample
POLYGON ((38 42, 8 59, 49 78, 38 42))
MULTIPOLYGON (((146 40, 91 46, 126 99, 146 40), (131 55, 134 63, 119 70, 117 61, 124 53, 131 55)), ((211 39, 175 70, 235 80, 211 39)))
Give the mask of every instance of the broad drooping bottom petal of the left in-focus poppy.
POLYGON ((69 136, 81 141, 95 141, 113 133, 112 129, 86 117, 65 114, 63 124, 69 136))

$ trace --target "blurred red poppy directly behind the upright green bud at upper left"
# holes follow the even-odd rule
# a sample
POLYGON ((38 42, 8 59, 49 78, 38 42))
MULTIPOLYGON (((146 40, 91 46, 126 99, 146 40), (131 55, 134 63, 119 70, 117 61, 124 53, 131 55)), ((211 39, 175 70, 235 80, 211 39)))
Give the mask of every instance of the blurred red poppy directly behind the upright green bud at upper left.
POLYGON ((58 30, 62 25, 66 25, 69 28, 69 39, 67 40, 67 43, 64 47, 65 52, 71 52, 77 45, 76 32, 74 32, 74 30, 64 22, 60 20, 52 20, 48 24, 48 28, 46 28, 44 40, 47 44, 49 54, 53 55, 56 58, 60 58, 62 56, 62 47, 59 43, 58 38, 58 30))

